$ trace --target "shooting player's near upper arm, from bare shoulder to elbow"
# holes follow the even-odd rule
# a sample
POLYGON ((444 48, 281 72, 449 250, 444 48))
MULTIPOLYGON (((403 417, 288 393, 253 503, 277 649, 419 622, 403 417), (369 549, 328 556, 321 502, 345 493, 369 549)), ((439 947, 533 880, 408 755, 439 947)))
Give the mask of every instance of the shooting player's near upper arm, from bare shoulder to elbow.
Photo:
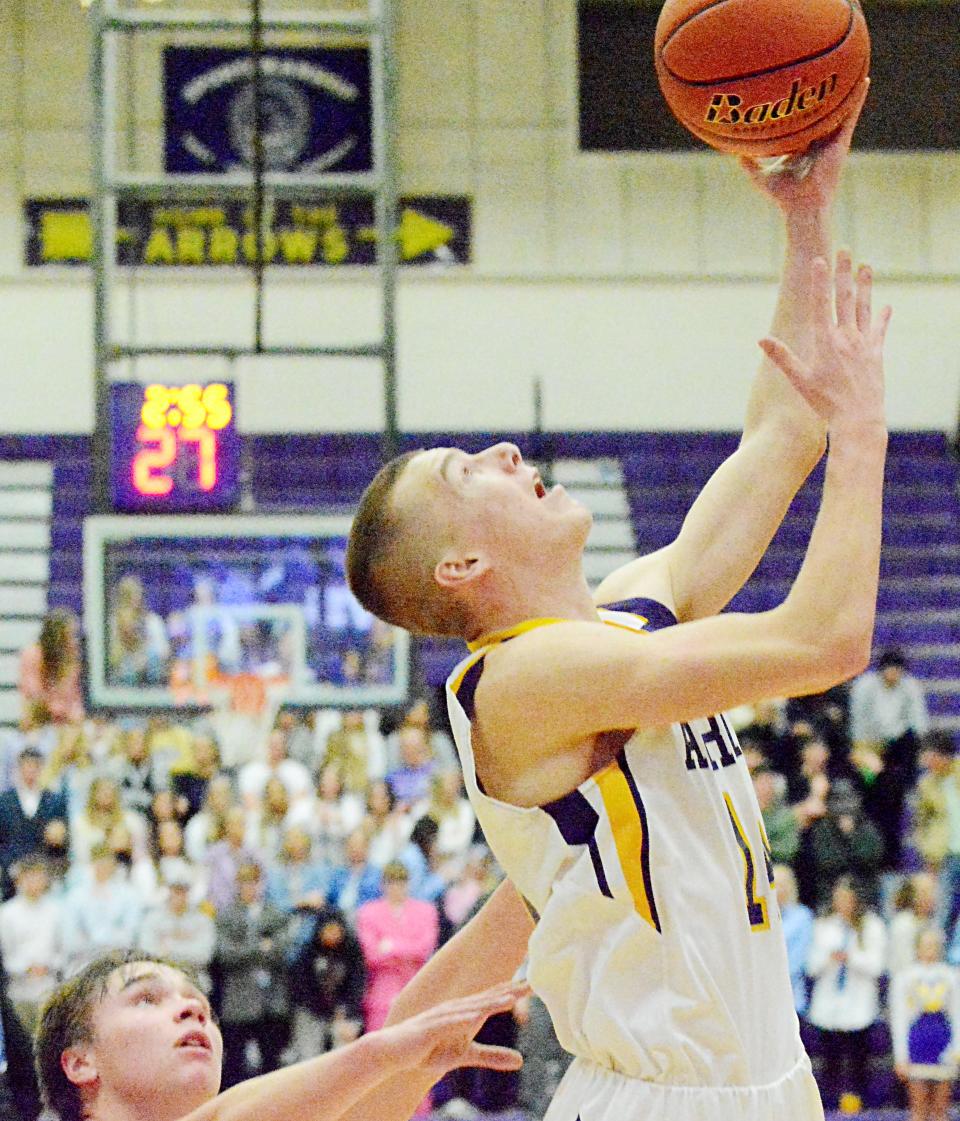
POLYGON ((590 751, 590 738, 659 728, 846 679, 851 651, 784 604, 647 634, 571 621, 537 628, 487 656, 476 725, 484 753, 530 769, 590 751))

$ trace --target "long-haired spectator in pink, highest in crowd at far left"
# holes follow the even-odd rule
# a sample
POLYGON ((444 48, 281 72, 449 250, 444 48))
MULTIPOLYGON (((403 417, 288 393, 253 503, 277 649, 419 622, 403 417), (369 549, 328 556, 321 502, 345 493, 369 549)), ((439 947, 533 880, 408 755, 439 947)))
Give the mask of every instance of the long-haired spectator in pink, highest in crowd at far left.
POLYGON ((25 731, 83 720, 76 615, 66 608, 47 612, 39 639, 20 655, 20 698, 25 731))

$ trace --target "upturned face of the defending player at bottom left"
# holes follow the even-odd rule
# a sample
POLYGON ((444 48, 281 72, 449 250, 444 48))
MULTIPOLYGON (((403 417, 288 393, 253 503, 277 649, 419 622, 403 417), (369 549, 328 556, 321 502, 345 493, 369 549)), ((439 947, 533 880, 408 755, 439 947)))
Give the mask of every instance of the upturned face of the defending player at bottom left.
POLYGON ((92 1027, 86 1050, 99 1100, 138 1103, 138 1117, 173 1121, 216 1095, 223 1039, 206 998, 178 970, 121 966, 92 1027))

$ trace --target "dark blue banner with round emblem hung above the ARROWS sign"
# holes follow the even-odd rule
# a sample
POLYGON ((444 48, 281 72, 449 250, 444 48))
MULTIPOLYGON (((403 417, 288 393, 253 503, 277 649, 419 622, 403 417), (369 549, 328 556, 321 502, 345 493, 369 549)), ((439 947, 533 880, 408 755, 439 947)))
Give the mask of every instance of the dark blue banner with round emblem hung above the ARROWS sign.
MULTIPOLYGON (((275 47, 260 56, 268 172, 372 168, 366 47, 275 47)), ((253 59, 238 47, 164 49, 165 167, 177 174, 253 163, 253 59)))

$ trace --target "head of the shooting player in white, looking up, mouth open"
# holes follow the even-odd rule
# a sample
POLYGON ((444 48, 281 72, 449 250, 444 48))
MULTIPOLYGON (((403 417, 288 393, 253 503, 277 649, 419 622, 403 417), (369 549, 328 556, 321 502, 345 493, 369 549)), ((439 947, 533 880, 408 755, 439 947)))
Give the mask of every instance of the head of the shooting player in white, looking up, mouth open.
POLYGON ((408 452, 360 500, 347 576, 386 622, 470 638, 491 608, 579 565, 590 522, 562 487, 547 492, 514 444, 408 452))

